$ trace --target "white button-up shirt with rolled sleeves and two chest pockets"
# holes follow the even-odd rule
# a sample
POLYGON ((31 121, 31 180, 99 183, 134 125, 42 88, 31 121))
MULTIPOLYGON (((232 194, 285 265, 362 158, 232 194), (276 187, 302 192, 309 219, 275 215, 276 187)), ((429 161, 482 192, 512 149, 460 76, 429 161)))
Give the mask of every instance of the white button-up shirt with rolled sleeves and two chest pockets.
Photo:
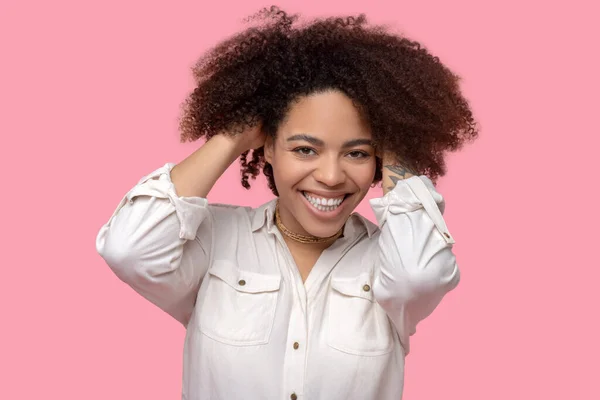
POLYGON ((186 328, 182 398, 399 400, 417 323, 459 281, 444 200, 426 176, 352 214, 302 282, 256 208, 178 197, 173 164, 144 177, 101 228, 115 274, 186 328))

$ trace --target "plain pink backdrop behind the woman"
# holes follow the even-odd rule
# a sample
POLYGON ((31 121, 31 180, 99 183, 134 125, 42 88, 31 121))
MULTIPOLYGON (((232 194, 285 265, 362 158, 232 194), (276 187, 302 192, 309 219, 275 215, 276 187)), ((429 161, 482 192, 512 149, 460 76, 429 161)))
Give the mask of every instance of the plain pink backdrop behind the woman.
MULTIPOLYGON (((414 337, 405 399, 600 398, 593 3, 279 2, 422 41, 482 125, 439 185, 463 279, 414 337)), ((183 328, 117 280, 95 236, 142 175, 196 148, 177 133, 189 68, 266 4, 0 4, 1 399, 179 398, 183 328)), ((268 198, 237 164, 210 196, 268 198)))

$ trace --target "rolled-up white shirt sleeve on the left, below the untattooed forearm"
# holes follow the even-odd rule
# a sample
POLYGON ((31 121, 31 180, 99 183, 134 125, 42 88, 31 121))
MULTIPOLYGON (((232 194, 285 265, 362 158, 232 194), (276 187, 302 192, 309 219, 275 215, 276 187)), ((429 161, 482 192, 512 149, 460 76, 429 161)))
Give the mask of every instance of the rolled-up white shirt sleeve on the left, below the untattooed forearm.
POLYGON ((186 326, 210 262, 212 224, 206 199, 176 194, 173 166, 124 196, 96 249, 119 279, 186 326))

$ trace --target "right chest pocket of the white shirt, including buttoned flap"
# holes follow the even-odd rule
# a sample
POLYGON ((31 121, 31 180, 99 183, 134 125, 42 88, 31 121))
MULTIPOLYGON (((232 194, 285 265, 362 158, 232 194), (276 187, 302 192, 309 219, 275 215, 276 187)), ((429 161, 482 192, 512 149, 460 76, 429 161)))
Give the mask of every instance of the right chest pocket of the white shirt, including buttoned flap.
POLYGON ((373 297, 370 274, 331 279, 328 344, 344 353, 378 356, 393 350, 393 331, 373 297))

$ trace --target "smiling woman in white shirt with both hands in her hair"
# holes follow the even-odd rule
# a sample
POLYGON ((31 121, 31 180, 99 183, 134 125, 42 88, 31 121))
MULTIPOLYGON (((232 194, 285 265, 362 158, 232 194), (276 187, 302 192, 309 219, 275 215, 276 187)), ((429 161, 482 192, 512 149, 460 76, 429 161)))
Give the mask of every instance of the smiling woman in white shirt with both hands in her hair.
POLYGON ((459 281, 433 183, 477 136, 468 103, 364 16, 254 19, 194 69, 182 138, 206 143, 127 193, 98 251, 186 327, 184 399, 397 400, 409 337, 459 281), (275 199, 209 204, 240 156, 275 199), (376 226, 354 209, 379 182, 376 226))

